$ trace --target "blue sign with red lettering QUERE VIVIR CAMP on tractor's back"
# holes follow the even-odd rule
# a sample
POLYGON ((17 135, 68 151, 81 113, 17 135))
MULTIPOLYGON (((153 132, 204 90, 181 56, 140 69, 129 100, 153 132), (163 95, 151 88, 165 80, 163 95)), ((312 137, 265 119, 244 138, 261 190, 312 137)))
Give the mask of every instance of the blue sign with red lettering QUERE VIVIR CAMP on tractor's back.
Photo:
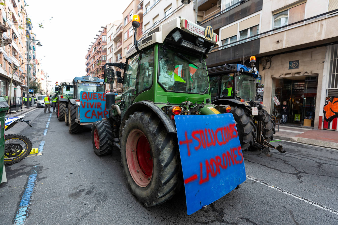
POLYGON ((105 109, 105 93, 81 91, 78 111, 81 123, 95 122, 106 118, 108 110, 105 109))

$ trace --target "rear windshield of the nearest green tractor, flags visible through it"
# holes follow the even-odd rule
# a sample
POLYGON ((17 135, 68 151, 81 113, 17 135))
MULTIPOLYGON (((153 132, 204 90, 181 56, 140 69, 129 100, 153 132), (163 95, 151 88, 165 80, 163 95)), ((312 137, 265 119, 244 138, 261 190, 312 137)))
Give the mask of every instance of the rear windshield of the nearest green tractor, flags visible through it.
POLYGON ((204 60, 197 55, 188 55, 168 48, 166 53, 159 48, 158 82, 173 92, 208 93, 209 81, 204 60))

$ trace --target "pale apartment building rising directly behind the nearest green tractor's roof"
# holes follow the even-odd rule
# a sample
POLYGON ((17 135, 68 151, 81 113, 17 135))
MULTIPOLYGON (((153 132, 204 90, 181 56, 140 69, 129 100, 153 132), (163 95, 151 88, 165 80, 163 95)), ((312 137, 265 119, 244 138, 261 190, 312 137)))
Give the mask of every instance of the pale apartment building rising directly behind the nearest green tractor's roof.
POLYGON ((158 25, 176 17, 184 17, 192 22, 196 21, 194 3, 184 5, 181 0, 144 0, 143 35, 158 25))

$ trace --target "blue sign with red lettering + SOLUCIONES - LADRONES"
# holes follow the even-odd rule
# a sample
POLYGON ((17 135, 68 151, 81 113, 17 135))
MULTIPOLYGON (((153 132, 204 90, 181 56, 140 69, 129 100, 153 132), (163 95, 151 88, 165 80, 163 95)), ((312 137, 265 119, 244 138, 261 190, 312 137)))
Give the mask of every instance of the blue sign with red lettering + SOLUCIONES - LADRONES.
POLYGON ((234 116, 175 116, 190 215, 245 181, 245 167, 234 116))

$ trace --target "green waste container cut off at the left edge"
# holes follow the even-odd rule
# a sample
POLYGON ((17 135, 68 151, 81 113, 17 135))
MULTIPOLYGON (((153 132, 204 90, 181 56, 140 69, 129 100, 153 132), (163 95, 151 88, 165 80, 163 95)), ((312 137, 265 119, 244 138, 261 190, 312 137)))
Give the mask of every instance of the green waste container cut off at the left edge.
POLYGON ((5 156, 5 114, 9 106, 3 97, 0 97, 0 184, 3 173, 4 156, 5 156))

